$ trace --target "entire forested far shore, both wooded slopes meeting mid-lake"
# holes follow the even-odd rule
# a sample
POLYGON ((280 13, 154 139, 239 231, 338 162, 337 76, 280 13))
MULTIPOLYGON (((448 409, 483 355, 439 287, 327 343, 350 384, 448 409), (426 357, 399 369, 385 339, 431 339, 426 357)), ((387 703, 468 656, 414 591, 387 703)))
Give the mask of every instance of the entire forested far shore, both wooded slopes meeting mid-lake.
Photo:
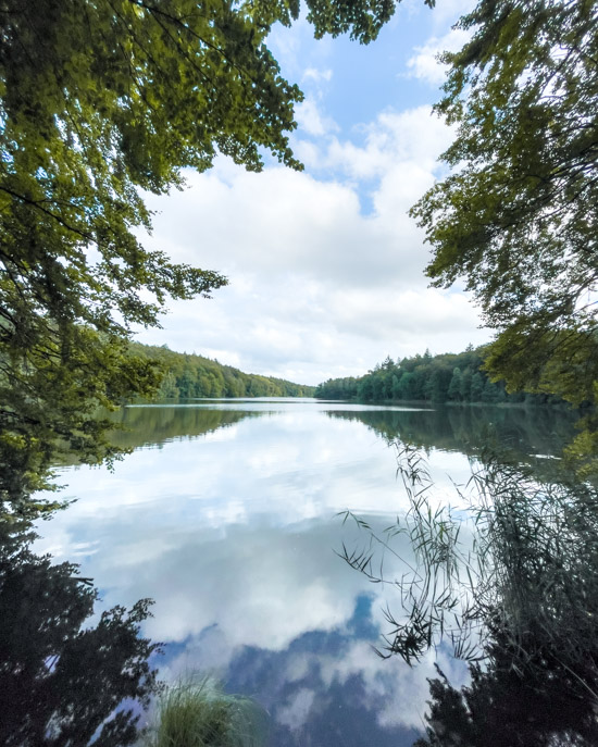
POLYGON ((571 410, 552 394, 509 393, 503 382, 493 382, 484 370, 485 346, 469 346, 460 353, 433 356, 429 350, 411 358, 389 356, 363 376, 328 378, 317 386, 276 376, 245 373, 198 353, 171 350, 167 345, 130 344, 130 352, 157 364, 162 381, 152 400, 242 397, 315 397, 385 404, 549 404, 571 410))

